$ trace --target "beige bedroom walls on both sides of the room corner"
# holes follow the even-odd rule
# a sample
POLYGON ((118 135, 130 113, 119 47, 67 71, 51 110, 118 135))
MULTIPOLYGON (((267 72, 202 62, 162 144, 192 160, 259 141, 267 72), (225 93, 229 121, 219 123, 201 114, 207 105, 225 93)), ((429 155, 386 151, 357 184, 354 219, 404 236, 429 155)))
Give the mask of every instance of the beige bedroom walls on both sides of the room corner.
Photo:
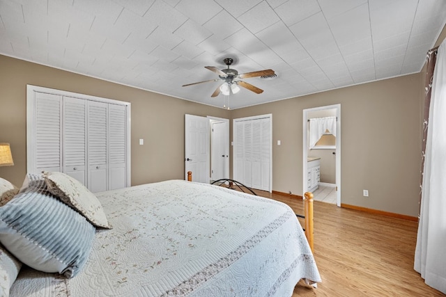
MULTIPOLYGON (((437 45, 445 37, 443 29, 437 45)), ((26 84, 131 102, 132 185, 183 179, 185 113, 231 119, 272 113, 273 190, 301 195, 302 110, 341 104, 342 203, 418 214, 424 71, 226 111, 0 56, 0 142, 11 144, 15 161, 0 167, 0 177, 18 186, 26 172, 26 84)))

